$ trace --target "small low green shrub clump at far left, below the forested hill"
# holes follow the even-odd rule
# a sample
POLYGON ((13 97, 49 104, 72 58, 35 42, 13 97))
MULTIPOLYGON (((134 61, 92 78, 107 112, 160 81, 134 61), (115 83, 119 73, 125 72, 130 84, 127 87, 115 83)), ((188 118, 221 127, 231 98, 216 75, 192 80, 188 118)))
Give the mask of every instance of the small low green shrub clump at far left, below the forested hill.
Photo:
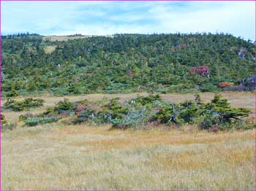
POLYGON ((25 98, 21 101, 15 101, 12 99, 7 99, 7 102, 4 104, 4 109, 20 112, 29 110, 31 108, 37 108, 43 106, 44 100, 37 98, 25 98))

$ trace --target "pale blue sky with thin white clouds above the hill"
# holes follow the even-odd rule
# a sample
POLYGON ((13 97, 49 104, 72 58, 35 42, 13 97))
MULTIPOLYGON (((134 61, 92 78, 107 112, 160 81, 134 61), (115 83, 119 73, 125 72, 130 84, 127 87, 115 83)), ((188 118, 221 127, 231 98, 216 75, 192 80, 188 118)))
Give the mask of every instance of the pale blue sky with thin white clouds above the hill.
POLYGON ((223 32, 255 40, 254 1, 1 1, 1 34, 223 32))

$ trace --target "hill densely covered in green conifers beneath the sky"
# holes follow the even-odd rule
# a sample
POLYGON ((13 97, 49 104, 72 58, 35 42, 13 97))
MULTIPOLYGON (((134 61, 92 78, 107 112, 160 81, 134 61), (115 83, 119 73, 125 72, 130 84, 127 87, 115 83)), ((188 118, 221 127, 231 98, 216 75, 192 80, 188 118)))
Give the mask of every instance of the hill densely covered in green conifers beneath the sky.
POLYGON ((254 74, 254 52, 252 42, 227 34, 2 36, 2 92, 216 91, 254 74))

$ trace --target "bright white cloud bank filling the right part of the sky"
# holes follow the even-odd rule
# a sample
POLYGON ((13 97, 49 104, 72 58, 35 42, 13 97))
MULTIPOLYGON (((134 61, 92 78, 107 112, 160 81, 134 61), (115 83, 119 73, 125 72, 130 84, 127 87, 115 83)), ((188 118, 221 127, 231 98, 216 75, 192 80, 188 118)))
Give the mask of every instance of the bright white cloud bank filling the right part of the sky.
POLYGON ((213 32, 222 31, 255 39, 254 2, 200 2, 197 9, 188 12, 176 11, 171 7, 154 7, 149 10, 159 21, 162 31, 213 32), (214 4, 211 7, 211 4, 214 4))

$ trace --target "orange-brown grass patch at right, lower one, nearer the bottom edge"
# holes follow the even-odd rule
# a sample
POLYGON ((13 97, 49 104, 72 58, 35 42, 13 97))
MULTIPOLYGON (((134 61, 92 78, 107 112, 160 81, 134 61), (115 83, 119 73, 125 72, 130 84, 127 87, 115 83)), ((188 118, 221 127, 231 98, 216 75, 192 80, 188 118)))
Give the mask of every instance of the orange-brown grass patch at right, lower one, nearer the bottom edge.
POLYGON ((225 163, 225 165, 242 165, 248 161, 254 160, 254 148, 249 147, 242 151, 234 149, 222 149, 220 147, 212 147, 203 152, 181 152, 181 153, 165 153, 152 158, 151 163, 154 168, 163 171, 170 170, 198 170, 202 168, 216 168, 216 165, 225 163))

